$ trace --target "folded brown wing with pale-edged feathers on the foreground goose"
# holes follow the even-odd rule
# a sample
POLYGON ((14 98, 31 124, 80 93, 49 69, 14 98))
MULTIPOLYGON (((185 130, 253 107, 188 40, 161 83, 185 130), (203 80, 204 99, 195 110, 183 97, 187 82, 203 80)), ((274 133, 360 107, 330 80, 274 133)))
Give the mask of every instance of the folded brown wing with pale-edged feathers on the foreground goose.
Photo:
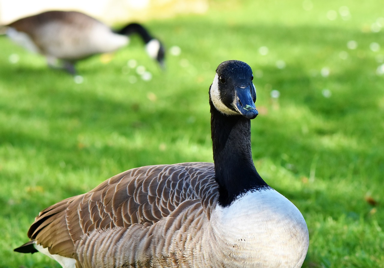
POLYGON ((70 197, 41 211, 28 237, 48 247, 51 254, 73 257, 74 244, 84 234, 135 223, 151 225, 183 202, 201 202, 209 217, 209 205, 217 195, 217 187, 212 163, 131 169, 86 194, 70 197))

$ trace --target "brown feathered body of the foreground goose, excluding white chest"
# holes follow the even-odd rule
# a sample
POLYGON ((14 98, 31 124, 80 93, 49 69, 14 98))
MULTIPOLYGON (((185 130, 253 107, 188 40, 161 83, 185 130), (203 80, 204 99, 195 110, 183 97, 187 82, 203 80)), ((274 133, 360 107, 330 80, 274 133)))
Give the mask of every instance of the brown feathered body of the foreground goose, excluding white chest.
POLYGON ((214 174, 213 163, 131 169, 43 210, 28 236, 51 254, 79 260, 83 266, 77 262, 78 267, 180 262, 196 243, 204 242, 190 240, 204 231, 207 220, 202 218, 209 219, 217 201, 214 174), (185 232, 188 228, 193 230, 185 232), (175 246, 175 235, 177 247, 184 243, 190 249, 174 248, 174 255, 166 256, 163 250, 175 246), (100 245, 106 250, 99 250, 100 245))

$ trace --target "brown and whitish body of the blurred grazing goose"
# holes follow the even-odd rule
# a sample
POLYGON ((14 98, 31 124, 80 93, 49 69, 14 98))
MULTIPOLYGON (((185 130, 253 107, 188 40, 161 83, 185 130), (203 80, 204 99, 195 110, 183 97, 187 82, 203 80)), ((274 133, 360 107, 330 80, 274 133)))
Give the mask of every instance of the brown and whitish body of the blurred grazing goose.
POLYGON ((44 12, 14 21, 8 27, 28 35, 36 46, 32 51, 70 61, 111 52, 129 42, 127 36, 113 33, 104 23, 74 11, 44 12))

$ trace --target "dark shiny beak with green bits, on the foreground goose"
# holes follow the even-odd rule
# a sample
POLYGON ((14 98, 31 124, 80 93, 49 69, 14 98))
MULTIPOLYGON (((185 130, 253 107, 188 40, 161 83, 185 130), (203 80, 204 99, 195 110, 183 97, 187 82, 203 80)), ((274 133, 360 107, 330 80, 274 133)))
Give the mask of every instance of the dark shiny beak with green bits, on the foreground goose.
POLYGON ((233 107, 245 118, 253 119, 259 114, 255 103, 252 100, 251 88, 235 87, 235 99, 232 103, 233 107))

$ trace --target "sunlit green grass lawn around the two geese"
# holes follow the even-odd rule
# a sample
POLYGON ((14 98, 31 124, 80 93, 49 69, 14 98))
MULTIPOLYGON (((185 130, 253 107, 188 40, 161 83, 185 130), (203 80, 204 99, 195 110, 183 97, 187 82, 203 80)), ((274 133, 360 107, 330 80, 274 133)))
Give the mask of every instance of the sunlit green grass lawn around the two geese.
POLYGON ((208 87, 220 62, 239 59, 255 74, 255 165, 308 224, 303 267, 383 268, 384 75, 376 69, 384 23, 371 31, 382 5, 349 1, 349 20, 327 18, 344 5, 326 0, 306 11, 301 0, 211 1, 204 15, 146 23, 167 48, 182 49, 168 55, 165 72, 133 38, 112 61, 79 62, 82 84, 0 38, 0 267, 59 267, 12 251, 50 204, 137 166, 212 161, 208 87), (10 63, 11 54, 20 60, 10 63), (138 77, 126 67, 132 58, 151 81, 130 83, 138 77))

